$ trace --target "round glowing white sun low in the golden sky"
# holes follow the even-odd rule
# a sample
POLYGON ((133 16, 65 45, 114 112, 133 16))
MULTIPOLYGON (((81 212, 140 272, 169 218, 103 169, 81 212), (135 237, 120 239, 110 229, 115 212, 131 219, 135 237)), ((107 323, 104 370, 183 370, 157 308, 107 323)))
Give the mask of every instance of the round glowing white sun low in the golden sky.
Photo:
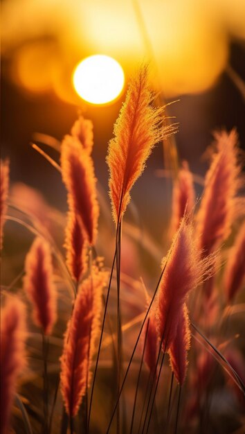
POLYGON ((122 92, 124 83, 123 68, 108 55, 91 55, 82 60, 73 72, 75 91, 91 104, 114 101, 122 92))

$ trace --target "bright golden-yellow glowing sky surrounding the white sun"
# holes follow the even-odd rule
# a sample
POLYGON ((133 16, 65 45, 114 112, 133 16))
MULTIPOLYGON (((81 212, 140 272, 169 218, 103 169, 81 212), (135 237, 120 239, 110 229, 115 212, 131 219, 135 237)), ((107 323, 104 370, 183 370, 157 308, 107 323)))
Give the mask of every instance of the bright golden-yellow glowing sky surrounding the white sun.
POLYGON ((1 48, 10 78, 29 92, 73 101, 75 65, 100 53, 126 78, 151 60, 155 87, 172 97, 215 83, 231 38, 245 40, 244 22, 244 0, 8 0, 1 48))

